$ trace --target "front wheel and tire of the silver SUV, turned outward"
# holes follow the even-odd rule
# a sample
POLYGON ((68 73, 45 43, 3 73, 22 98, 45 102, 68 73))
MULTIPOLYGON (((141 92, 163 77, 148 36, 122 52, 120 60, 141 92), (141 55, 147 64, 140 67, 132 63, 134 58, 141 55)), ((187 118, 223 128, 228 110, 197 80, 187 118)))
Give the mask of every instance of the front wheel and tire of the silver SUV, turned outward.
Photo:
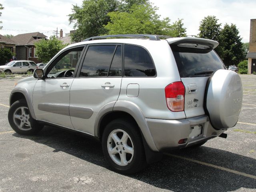
POLYGON ((8 120, 12 129, 21 135, 34 135, 43 128, 43 125, 31 117, 28 104, 24 99, 10 106, 8 120))

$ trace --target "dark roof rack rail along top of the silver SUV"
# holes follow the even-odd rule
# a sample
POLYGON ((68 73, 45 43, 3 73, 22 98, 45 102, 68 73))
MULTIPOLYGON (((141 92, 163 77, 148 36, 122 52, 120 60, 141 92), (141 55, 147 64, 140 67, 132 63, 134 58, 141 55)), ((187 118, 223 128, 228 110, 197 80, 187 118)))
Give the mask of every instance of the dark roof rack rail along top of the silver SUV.
POLYGON ((122 35, 104 35, 87 38, 83 41, 91 41, 95 39, 111 38, 111 37, 134 37, 134 38, 149 38, 149 40, 160 41, 160 38, 172 38, 163 35, 149 35, 149 34, 122 34, 122 35))

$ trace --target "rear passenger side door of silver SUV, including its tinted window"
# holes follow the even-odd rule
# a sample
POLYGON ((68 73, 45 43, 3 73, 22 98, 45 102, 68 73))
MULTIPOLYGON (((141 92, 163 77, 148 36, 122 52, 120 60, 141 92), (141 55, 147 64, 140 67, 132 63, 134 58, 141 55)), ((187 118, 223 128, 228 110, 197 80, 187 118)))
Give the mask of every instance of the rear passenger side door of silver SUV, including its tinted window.
POLYGON ((70 89, 70 118, 76 130, 94 135, 100 109, 118 99, 122 82, 122 45, 92 44, 70 89))

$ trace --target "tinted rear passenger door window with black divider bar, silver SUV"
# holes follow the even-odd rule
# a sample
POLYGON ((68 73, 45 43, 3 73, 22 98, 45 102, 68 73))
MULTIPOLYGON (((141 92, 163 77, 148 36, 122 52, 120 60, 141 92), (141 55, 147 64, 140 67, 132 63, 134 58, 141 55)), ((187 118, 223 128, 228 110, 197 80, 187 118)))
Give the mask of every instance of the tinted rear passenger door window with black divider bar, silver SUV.
POLYGON ((107 76, 112 60, 113 65, 111 66, 109 75, 119 75, 118 69, 121 69, 121 59, 118 54, 121 55, 120 52, 121 49, 116 49, 115 45, 89 46, 80 72, 80 77, 107 76), (115 50, 117 56, 114 56, 115 50))

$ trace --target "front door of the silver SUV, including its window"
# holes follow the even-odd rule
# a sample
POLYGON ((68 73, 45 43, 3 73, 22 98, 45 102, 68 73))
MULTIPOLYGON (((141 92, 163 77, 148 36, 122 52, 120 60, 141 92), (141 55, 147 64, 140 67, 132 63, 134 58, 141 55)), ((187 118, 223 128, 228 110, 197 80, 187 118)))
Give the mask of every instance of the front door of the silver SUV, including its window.
POLYGON ((38 120, 73 128, 69 115, 70 87, 82 49, 79 47, 61 53, 44 70, 46 79, 36 82, 33 107, 38 120))

